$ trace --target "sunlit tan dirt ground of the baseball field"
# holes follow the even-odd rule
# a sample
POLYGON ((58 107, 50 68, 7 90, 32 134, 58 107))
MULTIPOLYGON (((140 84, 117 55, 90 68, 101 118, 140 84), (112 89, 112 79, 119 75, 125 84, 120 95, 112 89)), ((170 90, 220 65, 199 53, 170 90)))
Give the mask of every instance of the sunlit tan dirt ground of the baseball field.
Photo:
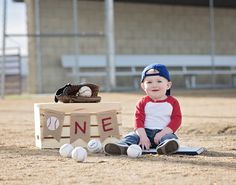
MULTIPOLYGON (((0 100, 0 184, 236 184, 236 90, 173 93, 183 113, 181 145, 206 152, 137 159, 89 154, 85 163, 35 147, 33 104, 52 102, 53 95, 7 96, 0 100)), ((103 102, 121 102, 123 134, 132 130, 142 95, 100 93, 103 102)))

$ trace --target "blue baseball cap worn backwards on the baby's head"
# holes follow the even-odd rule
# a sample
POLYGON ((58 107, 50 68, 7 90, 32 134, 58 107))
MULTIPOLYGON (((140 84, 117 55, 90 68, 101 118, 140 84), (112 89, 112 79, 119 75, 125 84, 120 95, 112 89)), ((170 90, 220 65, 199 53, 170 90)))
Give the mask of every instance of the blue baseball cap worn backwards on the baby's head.
MULTIPOLYGON (((163 65, 163 64, 150 64, 147 67, 145 67, 143 72, 142 72, 141 82, 143 82, 145 77, 147 77, 147 76, 162 76, 165 79, 167 79, 168 81, 170 81, 169 71, 167 70, 166 66, 163 65), (157 73, 153 73, 153 74, 147 74, 147 72, 150 69, 155 69, 158 72, 157 73)), ((166 95, 170 95, 170 89, 166 91, 166 95)))

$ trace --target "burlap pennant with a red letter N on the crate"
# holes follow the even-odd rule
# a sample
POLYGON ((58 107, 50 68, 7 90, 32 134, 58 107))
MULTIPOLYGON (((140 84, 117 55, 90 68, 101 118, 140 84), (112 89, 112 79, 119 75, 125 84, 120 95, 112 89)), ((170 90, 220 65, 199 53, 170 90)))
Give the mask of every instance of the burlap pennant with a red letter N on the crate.
POLYGON ((78 139, 88 142, 90 139, 90 115, 82 113, 71 114, 70 143, 78 139))

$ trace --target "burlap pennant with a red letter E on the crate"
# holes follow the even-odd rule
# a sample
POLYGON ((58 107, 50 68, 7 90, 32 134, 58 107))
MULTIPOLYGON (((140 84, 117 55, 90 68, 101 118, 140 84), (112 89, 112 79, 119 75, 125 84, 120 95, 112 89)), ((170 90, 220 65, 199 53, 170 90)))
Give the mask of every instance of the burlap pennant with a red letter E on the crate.
POLYGON ((108 137, 119 138, 116 110, 97 113, 97 122, 101 141, 108 137))

